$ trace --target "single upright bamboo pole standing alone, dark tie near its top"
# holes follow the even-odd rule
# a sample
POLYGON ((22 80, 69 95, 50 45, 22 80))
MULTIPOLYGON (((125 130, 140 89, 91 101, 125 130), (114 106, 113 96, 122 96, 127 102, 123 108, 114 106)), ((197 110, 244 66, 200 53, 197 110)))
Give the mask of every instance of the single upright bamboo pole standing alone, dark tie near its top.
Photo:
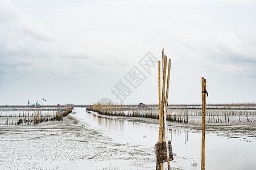
POLYGON ((205 169, 205 104, 206 104, 206 79, 202 77, 202 155, 201 169, 205 169))

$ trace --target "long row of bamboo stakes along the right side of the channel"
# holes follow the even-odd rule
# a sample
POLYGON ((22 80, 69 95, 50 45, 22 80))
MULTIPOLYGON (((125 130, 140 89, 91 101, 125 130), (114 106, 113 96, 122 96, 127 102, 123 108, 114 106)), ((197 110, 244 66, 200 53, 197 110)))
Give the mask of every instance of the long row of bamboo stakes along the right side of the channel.
MULTIPOLYGON (((93 104, 86 107, 86 110, 109 116, 144 117, 159 120, 159 107, 139 108, 138 105, 93 104)), ((206 107, 206 110, 207 123, 251 122, 247 116, 256 115, 256 110, 222 109, 217 111, 208 107, 206 107)), ((167 121, 187 124, 189 123, 189 117, 193 118, 194 116, 202 116, 201 109, 188 109, 187 106, 173 107, 172 105, 167 107, 167 121)))

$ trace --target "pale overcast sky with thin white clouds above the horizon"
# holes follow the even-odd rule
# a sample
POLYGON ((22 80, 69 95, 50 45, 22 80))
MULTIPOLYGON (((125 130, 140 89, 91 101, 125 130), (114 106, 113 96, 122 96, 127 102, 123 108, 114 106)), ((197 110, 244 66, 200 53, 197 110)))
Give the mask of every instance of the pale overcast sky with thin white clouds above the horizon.
POLYGON ((256 103, 255 30, 255 1, 0 0, 0 105, 119 103, 121 85, 156 104, 157 66, 139 63, 163 48, 169 104, 200 104, 202 76, 207 103, 256 103))

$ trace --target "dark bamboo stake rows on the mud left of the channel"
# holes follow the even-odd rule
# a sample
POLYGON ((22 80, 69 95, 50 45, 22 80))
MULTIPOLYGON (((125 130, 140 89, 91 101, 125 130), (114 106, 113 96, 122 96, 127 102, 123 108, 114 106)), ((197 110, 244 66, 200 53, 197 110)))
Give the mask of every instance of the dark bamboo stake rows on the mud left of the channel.
MULTIPOLYGON (((52 114, 47 113, 43 114, 44 109, 42 107, 35 108, 35 111, 32 113, 27 110, 27 113, 23 109, 23 115, 22 113, 19 113, 18 116, 14 113, 9 116, 8 112, 6 111, 6 117, 7 120, 5 122, 5 125, 36 125, 40 122, 46 122, 46 121, 62 121, 63 117, 67 116, 69 113, 72 112, 73 107, 71 105, 66 105, 64 108, 53 108, 52 114), (14 117, 14 120, 13 120, 14 117), (12 118, 10 121, 9 119, 12 118)), ((2 124, 2 123, 1 123, 2 124)))

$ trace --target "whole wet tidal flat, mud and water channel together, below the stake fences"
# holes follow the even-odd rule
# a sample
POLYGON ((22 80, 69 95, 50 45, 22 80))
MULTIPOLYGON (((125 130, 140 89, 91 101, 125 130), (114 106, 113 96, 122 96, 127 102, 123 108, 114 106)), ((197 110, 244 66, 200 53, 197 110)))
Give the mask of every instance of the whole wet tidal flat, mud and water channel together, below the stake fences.
MULTIPOLYGON (((255 169, 254 117, 207 124, 206 169, 255 169)), ((172 169, 201 169, 200 116, 189 119, 189 124, 168 122, 172 169)), ((158 124, 75 108, 63 121, 1 125, 0 169, 155 169, 158 124)))

